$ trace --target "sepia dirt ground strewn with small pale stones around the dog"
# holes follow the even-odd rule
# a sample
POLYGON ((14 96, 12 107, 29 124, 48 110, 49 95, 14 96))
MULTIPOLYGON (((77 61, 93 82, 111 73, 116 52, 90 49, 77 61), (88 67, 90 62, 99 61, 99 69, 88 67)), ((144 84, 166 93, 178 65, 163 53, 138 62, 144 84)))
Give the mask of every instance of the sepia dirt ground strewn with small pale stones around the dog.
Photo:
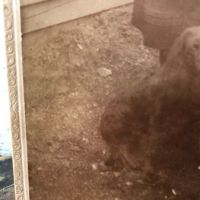
POLYGON ((105 106, 159 67, 131 12, 124 6, 23 36, 31 200, 200 199, 193 174, 155 184, 139 171, 101 169, 105 106))

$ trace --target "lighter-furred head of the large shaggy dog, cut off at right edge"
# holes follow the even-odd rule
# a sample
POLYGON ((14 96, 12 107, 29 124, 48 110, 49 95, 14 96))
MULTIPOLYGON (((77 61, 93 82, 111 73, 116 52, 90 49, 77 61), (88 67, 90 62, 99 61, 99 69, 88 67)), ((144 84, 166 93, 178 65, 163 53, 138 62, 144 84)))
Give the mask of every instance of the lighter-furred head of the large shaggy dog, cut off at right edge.
POLYGON ((187 28, 177 38, 167 62, 169 65, 176 62, 176 66, 173 65, 173 67, 185 66, 190 70, 200 72, 200 26, 187 28))

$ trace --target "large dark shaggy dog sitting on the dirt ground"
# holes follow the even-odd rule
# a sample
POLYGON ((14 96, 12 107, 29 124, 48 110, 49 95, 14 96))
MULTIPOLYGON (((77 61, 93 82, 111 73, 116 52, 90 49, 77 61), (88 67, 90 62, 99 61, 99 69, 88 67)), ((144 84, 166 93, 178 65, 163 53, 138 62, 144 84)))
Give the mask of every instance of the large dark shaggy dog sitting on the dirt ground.
POLYGON ((185 30, 167 61, 131 94, 113 99, 101 119, 106 165, 180 170, 200 163, 200 27, 185 30))

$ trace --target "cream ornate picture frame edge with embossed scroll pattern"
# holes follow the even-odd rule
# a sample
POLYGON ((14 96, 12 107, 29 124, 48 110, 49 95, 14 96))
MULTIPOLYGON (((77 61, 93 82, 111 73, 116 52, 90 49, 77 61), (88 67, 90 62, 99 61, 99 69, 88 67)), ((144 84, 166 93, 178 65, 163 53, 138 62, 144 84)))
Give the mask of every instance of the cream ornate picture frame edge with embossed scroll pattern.
POLYGON ((29 200, 19 0, 3 0, 15 200, 29 200))

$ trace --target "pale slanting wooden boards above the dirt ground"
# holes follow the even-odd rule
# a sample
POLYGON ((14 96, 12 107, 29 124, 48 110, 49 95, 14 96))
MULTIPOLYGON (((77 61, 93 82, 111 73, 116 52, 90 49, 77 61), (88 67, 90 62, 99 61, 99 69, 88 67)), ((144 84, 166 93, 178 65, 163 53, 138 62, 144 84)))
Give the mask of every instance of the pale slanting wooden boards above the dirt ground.
POLYGON ((29 33, 132 2, 133 0, 53 0, 24 7, 22 32, 29 33))

